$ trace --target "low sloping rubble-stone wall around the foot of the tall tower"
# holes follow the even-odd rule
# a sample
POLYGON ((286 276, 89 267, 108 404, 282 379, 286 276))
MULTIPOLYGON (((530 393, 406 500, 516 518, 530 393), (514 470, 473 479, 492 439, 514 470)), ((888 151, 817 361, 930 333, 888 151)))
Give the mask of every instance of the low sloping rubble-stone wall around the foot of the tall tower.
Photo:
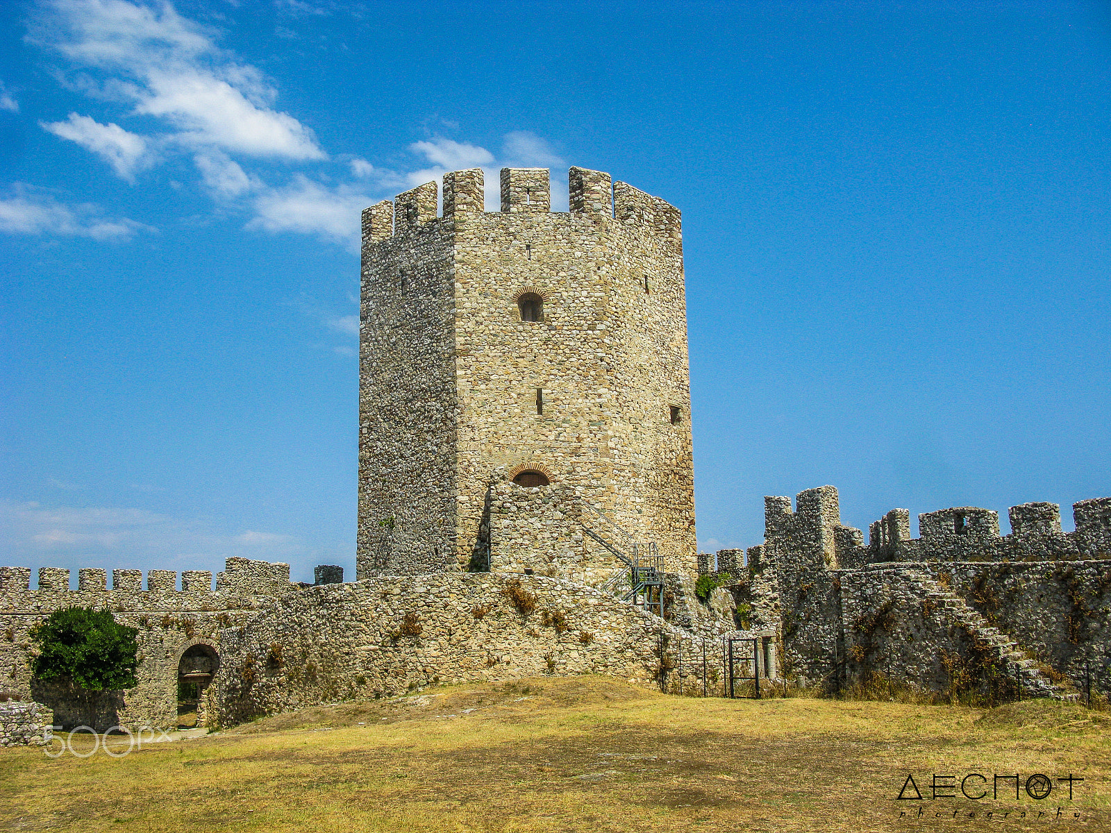
MULTIPOLYGON (((224 631, 221 646, 212 688, 226 724, 432 682, 600 673, 657 686, 662 668, 673 689, 680 652, 687 669, 702 663, 701 639, 610 595, 490 573, 312 588, 224 631), (510 598, 513 582, 533 600, 531 612, 510 598)), ((720 669, 720 641, 705 648, 710 668, 720 669)))

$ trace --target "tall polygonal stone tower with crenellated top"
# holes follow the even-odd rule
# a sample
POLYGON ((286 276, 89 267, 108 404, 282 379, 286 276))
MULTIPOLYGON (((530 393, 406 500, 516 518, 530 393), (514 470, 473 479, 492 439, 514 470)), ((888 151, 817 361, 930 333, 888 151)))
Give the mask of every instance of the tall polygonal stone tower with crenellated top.
POLYGON ((479 169, 362 215, 358 578, 619 565, 593 509, 692 574, 679 210, 570 170, 479 169), (585 505, 589 504, 589 505, 585 505), (593 508, 593 509, 591 509, 593 508), (583 514, 585 513, 585 514, 583 514))

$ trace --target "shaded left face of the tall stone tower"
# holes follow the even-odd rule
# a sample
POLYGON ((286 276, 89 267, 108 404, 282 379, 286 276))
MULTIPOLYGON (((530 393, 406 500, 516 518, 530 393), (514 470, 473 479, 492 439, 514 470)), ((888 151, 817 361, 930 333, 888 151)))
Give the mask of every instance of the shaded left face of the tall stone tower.
POLYGON ((453 229, 436 183, 363 212, 357 574, 458 569, 453 229))

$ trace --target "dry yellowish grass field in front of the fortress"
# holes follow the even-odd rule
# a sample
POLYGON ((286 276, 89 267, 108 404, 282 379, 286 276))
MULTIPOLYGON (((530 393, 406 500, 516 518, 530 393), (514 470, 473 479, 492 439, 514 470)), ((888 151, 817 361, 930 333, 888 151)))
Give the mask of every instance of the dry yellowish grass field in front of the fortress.
POLYGON ((308 709, 119 759, 0 750, 0 830, 1107 831, 1109 727, 1038 701, 702 700, 546 678, 308 709), (925 800, 895 800, 908 773, 925 800), (961 796, 969 773, 985 799, 961 796), (1015 800, 1011 779, 992 800, 1007 773, 1044 773, 1053 792, 1015 800), (1070 773, 1084 779, 1072 801, 1057 781, 1070 773), (960 797, 931 800, 934 774, 960 797))

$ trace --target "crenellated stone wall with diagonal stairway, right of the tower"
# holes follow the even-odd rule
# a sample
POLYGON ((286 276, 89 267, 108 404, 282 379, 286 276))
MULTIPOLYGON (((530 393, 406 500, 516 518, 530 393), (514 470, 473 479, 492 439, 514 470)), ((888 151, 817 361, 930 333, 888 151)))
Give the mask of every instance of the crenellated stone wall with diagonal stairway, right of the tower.
MULTIPOLYGON (((919 515, 894 509, 860 530, 841 525, 837 490, 767 498, 764 543, 719 553, 739 610, 774 628, 787 673, 838 691, 879 676, 951 695, 1072 699, 1111 685, 1111 498, 995 512, 919 515), (723 560, 721 556, 725 554, 723 560)), ((700 571, 711 572, 710 558, 700 571)))

